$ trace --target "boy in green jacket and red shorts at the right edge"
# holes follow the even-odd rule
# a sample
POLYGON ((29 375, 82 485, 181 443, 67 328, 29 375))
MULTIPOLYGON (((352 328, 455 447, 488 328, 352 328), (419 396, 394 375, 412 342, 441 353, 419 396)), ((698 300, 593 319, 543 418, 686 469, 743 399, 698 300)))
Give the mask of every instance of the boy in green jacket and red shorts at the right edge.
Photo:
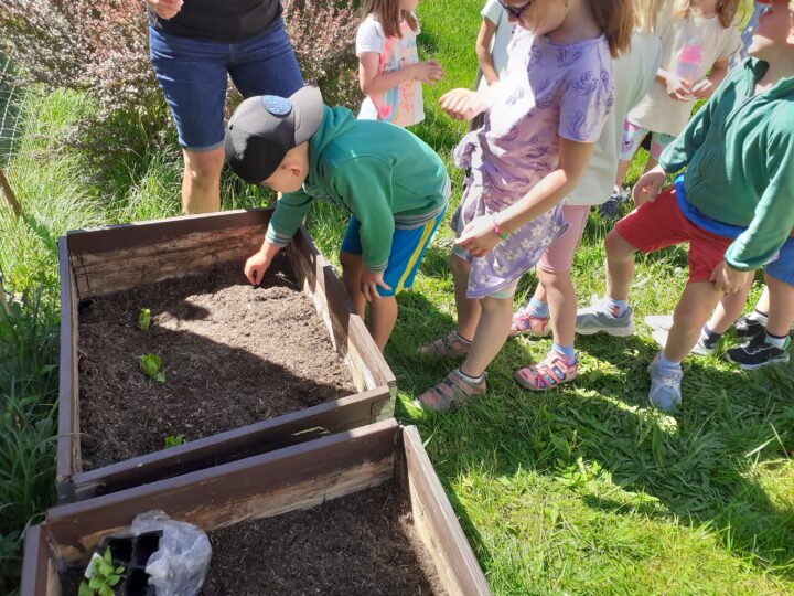
MULTIPOLYGON (((680 404, 680 361, 719 299, 766 264, 768 275, 792 267, 781 252, 794 227, 794 1, 763 3, 751 57, 729 73, 658 167, 636 183, 637 209, 605 240, 607 297, 577 316, 579 333, 630 334, 634 252, 689 242, 689 281, 664 351, 648 368, 648 400, 664 411, 680 404), (659 193, 665 175, 685 167, 675 187, 659 193)), ((791 281, 775 284, 787 295, 781 301, 794 295, 791 281)), ((779 339, 787 348, 787 338, 779 339)))

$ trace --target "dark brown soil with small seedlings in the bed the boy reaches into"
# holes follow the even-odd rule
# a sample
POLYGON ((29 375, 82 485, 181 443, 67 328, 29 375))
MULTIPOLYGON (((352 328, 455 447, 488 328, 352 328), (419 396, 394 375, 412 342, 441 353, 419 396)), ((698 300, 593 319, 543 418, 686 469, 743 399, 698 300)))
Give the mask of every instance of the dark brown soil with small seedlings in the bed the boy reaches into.
POLYGON ((262 286, 238 266, 96 298, 81 307, 84 469, 194 440, 355 393, 286 257, 262 286), (137 326, 141 308, 151 327, 137 326), (138 356, 162 359, 165 383, 138 356))

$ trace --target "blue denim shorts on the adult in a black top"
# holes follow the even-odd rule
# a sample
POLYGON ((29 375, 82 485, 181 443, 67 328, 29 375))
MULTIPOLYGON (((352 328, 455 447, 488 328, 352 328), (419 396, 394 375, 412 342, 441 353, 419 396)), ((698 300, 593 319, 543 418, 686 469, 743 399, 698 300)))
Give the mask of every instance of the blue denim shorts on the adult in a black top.
POLYGON ((227 75, 244 97, 289 97, 303 86, 281 19, 233 44, 170 35, 150 26, 149 55, 179 142, 191 151, 223 145, 227 75))

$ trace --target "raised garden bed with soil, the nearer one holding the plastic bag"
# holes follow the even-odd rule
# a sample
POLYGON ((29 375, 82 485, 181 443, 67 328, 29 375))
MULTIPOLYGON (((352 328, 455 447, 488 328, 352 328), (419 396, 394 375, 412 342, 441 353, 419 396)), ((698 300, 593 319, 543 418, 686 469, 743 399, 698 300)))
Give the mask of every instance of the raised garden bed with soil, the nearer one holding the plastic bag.
POLYGON ((208 532, 204 594, 490 594, 419 434, 389 419, 51 509, 22 595, 57 594, 152 509, 208 532))

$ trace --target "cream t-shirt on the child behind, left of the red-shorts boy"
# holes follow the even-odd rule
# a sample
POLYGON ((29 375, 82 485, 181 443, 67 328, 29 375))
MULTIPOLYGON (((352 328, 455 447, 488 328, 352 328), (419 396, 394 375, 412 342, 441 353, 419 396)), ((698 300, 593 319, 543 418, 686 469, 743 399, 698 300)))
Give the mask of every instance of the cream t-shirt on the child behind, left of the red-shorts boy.
MULTIPOLYGON (((739 29, 722 26, 718 17, 705 19, 694 13, 686 19, 674 17, 662 33, 661 67, 695 84, 715 62, 729 60, 740 49, 739 29)), ((647 96, 629 114, 629 121, 676 137, 686 127, 694 106, 695 98, 673 99, 666 86, 656 81, 647 96)))

